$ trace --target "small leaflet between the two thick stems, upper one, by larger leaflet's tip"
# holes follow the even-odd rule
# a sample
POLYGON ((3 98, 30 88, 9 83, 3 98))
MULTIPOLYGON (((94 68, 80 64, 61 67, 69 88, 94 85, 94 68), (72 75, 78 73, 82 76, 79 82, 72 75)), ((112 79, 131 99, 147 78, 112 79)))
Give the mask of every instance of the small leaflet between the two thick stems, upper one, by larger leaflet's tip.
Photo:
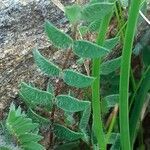
POLYGON ((107 39, 104 42, 104 47, 109 49, 109 50, 112 50, 119 43, 119 40, 120 40, 119 37, 107 39))

